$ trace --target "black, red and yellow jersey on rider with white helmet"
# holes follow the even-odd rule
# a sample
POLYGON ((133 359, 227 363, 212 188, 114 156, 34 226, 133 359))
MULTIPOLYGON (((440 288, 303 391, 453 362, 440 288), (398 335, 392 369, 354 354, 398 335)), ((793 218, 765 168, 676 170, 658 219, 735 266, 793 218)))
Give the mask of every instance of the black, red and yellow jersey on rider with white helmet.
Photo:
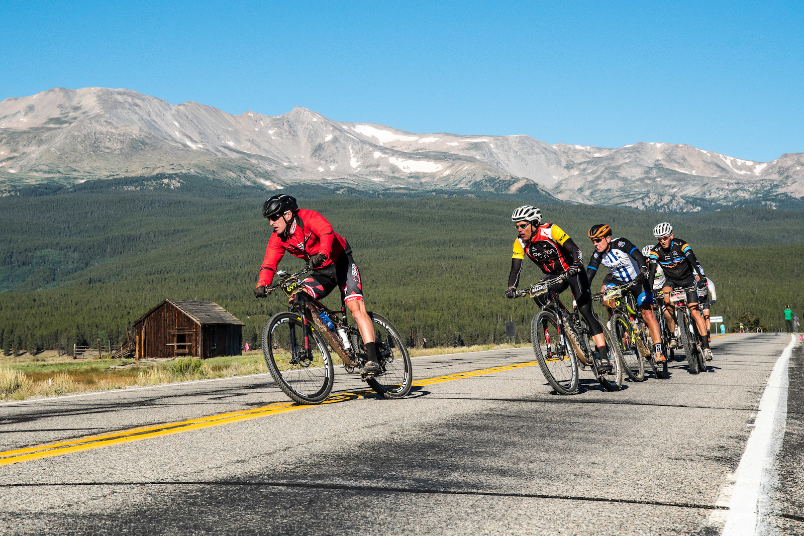
POLYGON ((511 258, 524 259, 526 255, 548 275, 564 273, 570 264, 582 260, 580 249, 554 223, 540 225, 527 242, 516 239, 511 258))

